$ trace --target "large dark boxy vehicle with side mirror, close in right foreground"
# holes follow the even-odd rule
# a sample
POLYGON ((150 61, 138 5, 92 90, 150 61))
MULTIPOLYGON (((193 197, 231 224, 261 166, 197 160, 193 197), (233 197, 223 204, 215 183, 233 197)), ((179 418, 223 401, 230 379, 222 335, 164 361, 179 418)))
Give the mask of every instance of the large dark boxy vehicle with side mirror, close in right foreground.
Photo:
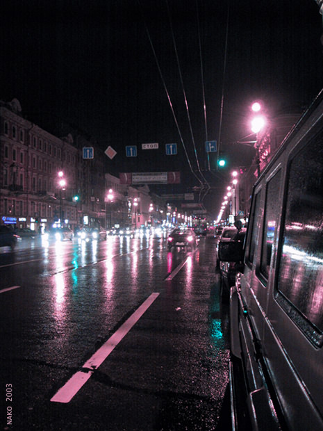
MULTIPOLYGON (((258 177, 230 295, 235 430, 323 430, 323 92, 258 177)), ((224 250, 226 249, 226 250, 224 250)))

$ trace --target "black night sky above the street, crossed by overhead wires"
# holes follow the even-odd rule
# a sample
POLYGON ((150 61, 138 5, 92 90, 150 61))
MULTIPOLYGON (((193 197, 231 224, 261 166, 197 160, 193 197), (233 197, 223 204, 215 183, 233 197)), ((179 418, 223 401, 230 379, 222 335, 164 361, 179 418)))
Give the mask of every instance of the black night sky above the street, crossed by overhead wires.
POLYGON ((219 203, 229 170, 254 156, 233 144, 250 133, 251 101, 262 99, 273 117, 301 113, 323 87, 314 0, 5 0, 0 26, 0 99, 16 97, 28 120, 54 134, 64 122, 111 145, 113 174, 180 170, 183 184, 165 193, 206 179, 208 204, 219 203), (222 90, 230 165, 218 172, 216 154, 208 170, 204 143, 219 138, 222 90), (166 156, 165 143, 179 154, 166 156), (138 157, 127 158, 126 145, 137 145, 138 157))

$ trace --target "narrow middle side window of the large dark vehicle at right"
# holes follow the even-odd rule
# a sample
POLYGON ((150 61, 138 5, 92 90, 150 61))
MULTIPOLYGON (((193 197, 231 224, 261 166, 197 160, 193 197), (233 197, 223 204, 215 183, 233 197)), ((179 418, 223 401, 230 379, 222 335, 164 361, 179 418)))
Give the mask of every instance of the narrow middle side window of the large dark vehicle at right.
POLYGON ((277 172, 266 189, 265 222, 263 225, 263 248, 261 251, 260 273, 268 279, 270 259, 272 257, 272 244, 276 229, 276 218, 279 213, 279 189, 281 185, 281 170, 277 172))

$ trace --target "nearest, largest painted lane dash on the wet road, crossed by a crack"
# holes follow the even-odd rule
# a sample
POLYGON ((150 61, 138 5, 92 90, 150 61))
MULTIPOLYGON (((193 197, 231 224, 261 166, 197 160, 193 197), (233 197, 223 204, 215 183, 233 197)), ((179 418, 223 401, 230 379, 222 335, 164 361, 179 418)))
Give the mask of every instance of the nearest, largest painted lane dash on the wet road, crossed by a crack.
POLYGON ((72 400, 74 395, 83 387, 94 373, 94 370, 98 368, 102 362, 110 355, 115 347, 119 344, 120 341, 124 338, 124 336, 131 330, 133 325, 138 322, 142 314, 144 314, 147 309, 151 306, 151 304, 156 300, 159 293, 151 293, 151 295, 145 300, 140 307, 133 313, 131 316, 119 327, 117 332, 115 332, 106 343, 104 343, 97 352, 85 362, 82 368, 83 371, 78 371, 65 383, 63 387, 58 389, 56 394, 51 398, 53 402, 69 402, 72 400))

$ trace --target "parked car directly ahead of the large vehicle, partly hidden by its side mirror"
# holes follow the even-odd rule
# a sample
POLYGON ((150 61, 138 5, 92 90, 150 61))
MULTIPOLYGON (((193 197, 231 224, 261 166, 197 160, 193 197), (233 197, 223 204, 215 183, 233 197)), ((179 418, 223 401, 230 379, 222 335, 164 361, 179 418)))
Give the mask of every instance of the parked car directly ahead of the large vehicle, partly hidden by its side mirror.
MULTIPOLYGON (((230 241, 224 241, 224 243, 231 243, 232 241, 241 243, 241 247, 245 242, 246 236, 245 228, 240 229, 233 235, 230 241)), ((225 247, 225 246, 224 246, 225 247)), ((222 300, 228 300, 230 297, 230 288, 235 285, 235 275, 242 271, 243 265, 241 261, 221 261, 219 258, 220 267, 220 296, 222 300)))

